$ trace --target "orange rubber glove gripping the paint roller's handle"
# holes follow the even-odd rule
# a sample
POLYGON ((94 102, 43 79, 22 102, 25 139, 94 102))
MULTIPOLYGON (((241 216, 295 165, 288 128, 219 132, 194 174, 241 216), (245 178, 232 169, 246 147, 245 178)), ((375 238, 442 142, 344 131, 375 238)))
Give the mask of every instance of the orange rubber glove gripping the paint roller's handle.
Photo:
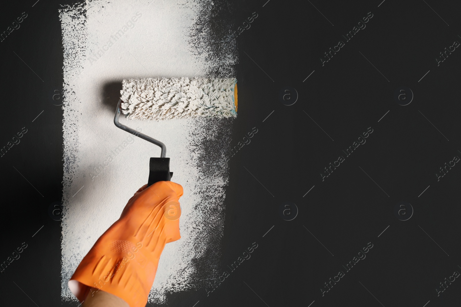
POLYGON ((78 265, 68 283, 72 294, 82 302, 93 287, 144 307, 165 244, 181 238, 182 195, 171 181, 142 186, 78 265))

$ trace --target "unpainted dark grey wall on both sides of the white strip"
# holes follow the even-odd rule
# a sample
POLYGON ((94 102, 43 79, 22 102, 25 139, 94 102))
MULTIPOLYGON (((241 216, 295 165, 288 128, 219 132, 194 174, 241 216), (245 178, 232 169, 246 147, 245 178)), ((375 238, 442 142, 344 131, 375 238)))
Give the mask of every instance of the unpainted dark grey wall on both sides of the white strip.
MULTIPOLYGON (((0 146, 27 129, 0 158, 0 261, 27 244, 0 275, 2 306, 61 304, 60 222, 48 214, 61 198, 63 174, 63 111, 53 105, 60 104, 63 82, 59 2, 15 2, 0 12, 1 31, 27 13, 0 42, 0 146)), ((254 127, 258 132, 230 161, 222 246, 229 276, 215 290, 169 295, 169 306, 458 306, 458 278, 438 296, 436 289, 461 272, 461 166, 436 174, 461 157, 461 51, 447 52, 438 65, 436 58, 461 42, 461 7, 454 1, 311 2, 231 5, 236 30, 258 14, 237 37, 233 145, 254 127), (368 12, 366 28, 346 41, 343 35, 368 12), (340 40, 344 46, 322 63, 340 40), (401 87, 400 104, 414 95, 408 105, 395 99, 401 87), (288 104, 293 89, 296 103, 284 105, 279 97, 289 94, 288 104), (366 143, 346 156, 371 129, 366 143), (339 156, 344 161, 322 179, 339 156), (227 266, 254 242, 251 258, 231 272, 227 266), (359 254, 367 245, 372 248, 359 254), (359 255, 366 258, 356 260, 359 255), (325 283, 339 271, 344 276, 328 290, 325 283)))

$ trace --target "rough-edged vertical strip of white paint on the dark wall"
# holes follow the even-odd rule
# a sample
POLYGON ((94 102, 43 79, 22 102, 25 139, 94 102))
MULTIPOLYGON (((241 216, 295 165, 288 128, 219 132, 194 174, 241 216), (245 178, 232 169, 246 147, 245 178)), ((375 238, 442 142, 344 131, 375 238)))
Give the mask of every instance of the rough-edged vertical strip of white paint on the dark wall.
MULTIPOLYGON (((92 1, 61 10, 65 299, 75 300, 67 281, 78 263, 147 183, 149 157, 160 156, 160 148, 113 124, 122 79, 210 76, 209 68, 219 66, 194 54, 200 50, 190 42, 201 6, 186 1, 92 1)), ((230 57, 227 65, 235 61, 230 57)), ((182 239, 166 245, 150 295, 151 301, 162 302, 167 291, 203 284, 197 277, 199 266, 209 277, 217 274, 232 119, 121 121, 165 143, 172 180, 184 188, 182 239), (203 145, 210 141, 214 152, 203 145), (207 172, 202 164, 210 163, 214 168, 207 172), (207 256, 209 249, 215 250, 213 256, 207 256)))

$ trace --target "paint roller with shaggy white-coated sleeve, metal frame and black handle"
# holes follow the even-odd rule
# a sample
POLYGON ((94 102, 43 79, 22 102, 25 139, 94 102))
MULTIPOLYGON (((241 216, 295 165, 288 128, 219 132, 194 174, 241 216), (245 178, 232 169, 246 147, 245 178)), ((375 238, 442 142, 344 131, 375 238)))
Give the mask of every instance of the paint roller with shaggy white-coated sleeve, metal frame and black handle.
POLYGON ((169 120, 191 117, 236 117, 237 80, 235 78, 144 78, 122 81, 121 97, 115 112, 115 126, 160 147, 160 157, 149 161, 148 186, 170 181, 170 158, 166 146, 157 139, 118 121, 120 113, 128 119, 169 120))

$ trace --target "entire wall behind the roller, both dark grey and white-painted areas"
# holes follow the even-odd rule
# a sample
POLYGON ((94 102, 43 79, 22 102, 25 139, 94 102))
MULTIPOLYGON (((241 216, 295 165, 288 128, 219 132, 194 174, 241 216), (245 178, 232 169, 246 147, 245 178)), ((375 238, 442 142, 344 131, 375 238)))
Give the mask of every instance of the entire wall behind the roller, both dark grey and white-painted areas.
POLYGON ((153 75, 235 76, 239 104, 122 119, 186 191, 147 306, 460 305, 459 2, 124 2, 0 10, 2 306, 78 307, 72 266, 160 152, 112 123, 153 75))

